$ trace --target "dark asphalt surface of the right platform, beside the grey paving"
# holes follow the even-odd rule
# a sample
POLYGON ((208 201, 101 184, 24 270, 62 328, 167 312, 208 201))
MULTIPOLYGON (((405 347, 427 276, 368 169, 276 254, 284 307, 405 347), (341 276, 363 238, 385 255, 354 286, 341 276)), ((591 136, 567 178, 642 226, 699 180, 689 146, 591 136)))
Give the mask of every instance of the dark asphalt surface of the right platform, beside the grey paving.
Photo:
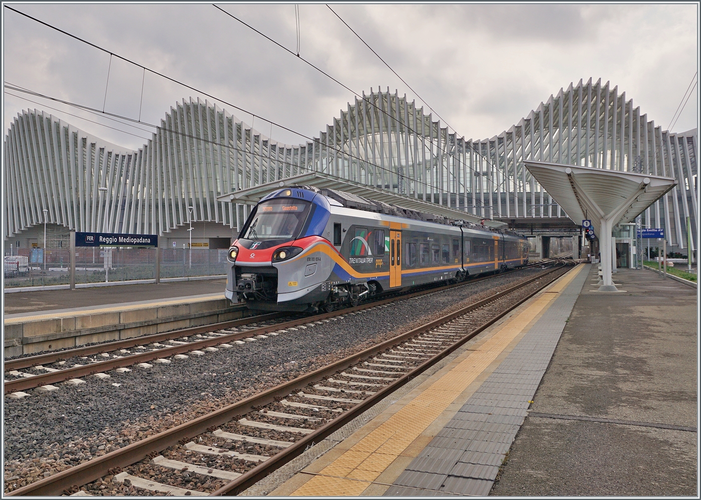
POLYGON ((626 292, 596 279, 491 494, 697 497, 697 291, 651 271, 618 270, 626 292))

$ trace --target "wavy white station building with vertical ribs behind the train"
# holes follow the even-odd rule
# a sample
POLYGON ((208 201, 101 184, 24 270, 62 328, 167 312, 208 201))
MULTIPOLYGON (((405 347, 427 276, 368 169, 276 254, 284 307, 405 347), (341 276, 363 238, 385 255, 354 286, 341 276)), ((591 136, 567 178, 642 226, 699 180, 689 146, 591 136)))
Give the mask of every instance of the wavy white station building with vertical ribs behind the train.
POLYGON ((533 160, 674 177, 676 186, 644 211, 642 223, 665 228, 668 249, 686 254, 687 217, 696 238, 697 140, 697 130, 662 130, 625 92, 591 78, 482 140, 458 137, 389 89, 356 98, 318 138, 299 145, 273 141, 199 99, 173 106, 136 151, 25 110, 5 137, 4 239, 7 248, 55 248, 75 229, 157 234, 162 247, 225 248, 250 204, 217 197, 306 172, 526 233, 578 234, 580 221, 524 167, 533 160))

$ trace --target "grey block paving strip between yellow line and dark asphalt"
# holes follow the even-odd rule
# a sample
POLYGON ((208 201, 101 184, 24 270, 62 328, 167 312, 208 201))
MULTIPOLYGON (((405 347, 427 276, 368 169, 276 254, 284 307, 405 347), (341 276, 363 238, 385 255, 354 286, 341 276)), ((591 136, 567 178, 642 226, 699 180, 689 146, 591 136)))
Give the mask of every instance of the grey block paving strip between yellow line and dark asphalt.
POLYGON ((560 292, 555 302, 385 496, 489 494, 586 279, 549 290, 560 292))

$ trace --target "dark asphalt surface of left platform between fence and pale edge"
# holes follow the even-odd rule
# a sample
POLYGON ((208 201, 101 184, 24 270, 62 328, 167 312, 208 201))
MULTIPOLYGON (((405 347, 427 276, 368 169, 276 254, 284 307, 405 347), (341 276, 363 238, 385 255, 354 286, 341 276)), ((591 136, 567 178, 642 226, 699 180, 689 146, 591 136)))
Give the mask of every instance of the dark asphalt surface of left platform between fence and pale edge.
POLYGON ((224 294, 226 279, 143 283, 75 290, 42 290, 4 294, 5 317, 39 311, 64 311, 76 308, 98 307, 144 300, 200 296, 209 293, 224 294))

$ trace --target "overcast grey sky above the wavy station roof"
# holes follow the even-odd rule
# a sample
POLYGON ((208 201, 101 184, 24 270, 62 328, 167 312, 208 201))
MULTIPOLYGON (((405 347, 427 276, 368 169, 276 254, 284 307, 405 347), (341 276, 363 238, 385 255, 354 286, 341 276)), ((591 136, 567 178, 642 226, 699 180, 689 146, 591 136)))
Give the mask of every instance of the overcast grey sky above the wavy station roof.
MULTIPOLYGON (((149 69, 217 97, 220 106, 288 144, 318 137, 353 93, 211 4, 9 4, 149 69)), ((294 4, 219 4, 297 52, 294 4)), ((618 85, 663 128, 695 81, 698 11, 688 5, 338 5, 348 25, 466 139, 508 129, 569 83, 618 85)), ((197 93, 3 9, 4 78, 22 88, 144 123, 197 93), (109 69, 109 85, 107 74, 109 69), (143 82, 143 92, 142 92, 143 82), (107 86, 107 92, 106 92, 107 86)), ((324 4, 299 5, 299 53, 354 92, 390 88, 422 101, 324 4)), ((673 131, 696 127, 697 87, 673 131)), ((12 94, 22 94, 10 91, 12 94)), ((212 101, 212 99, 210 99, 212 101)), ((42 97, 4 95, 4 126, 43 109, 121 146, 139 128, 42 97), (39 104, 28 102, 31 99, 39 104), (59 109, 55 111, 48 106, 59 109), (90 121, 114 127, 113 130, 90 121)))

